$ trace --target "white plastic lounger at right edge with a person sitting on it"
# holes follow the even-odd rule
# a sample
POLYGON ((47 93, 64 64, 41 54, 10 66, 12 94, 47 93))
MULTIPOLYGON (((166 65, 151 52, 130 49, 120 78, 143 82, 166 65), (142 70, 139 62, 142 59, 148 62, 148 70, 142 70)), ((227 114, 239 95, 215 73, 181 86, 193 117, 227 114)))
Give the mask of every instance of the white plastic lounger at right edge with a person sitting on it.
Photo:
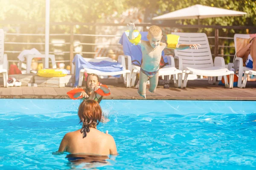
MULTIPOLYGON (((235 42, 235 49, 237 48, 236 44, 236 38, 244 38, 244 39, 249 39, 250 35, 249 34, 235 34, 234 35, 234 42, 235 42)), ((237 49, 236 49, 237 53, 237 49)), ((234 65, 233 65, 235 72, 239 70, 238 73, 238 83, 237 86, 239 88, 245 88, 246 82, 247 82, 247 75, 254 75, 256 76, 256 71, 253 71, 251 68, 244 67, 243 66, 243 59, 241 57, 236 57, 234 58, 234 65), (244 76, 243 76, 244 74, 244 76)))

